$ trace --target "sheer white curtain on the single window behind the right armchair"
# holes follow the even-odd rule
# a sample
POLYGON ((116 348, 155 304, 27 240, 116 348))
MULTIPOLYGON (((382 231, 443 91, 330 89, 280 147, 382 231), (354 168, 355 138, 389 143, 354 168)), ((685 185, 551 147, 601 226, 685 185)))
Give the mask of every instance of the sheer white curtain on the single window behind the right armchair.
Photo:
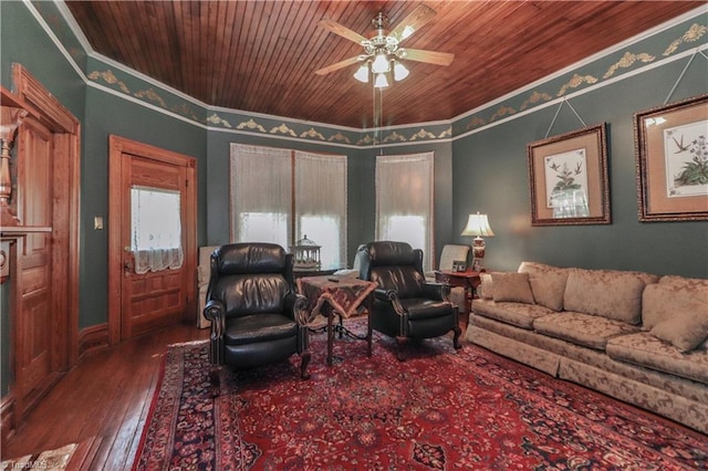
POLYGON ((376 239, 408 242, 434 259, 433 153, 376 157, 376 239))

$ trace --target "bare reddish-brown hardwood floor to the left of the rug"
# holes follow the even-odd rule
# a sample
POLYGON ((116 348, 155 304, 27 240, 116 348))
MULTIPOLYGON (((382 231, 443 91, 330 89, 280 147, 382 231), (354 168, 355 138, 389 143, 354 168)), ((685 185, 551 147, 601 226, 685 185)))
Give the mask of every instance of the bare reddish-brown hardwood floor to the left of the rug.
POLYGON ((25 418, 2 459, 94 440, 87 469, 131 469, 166 346, 208 337, 209 329, 177 325, 86 355, 25 418))

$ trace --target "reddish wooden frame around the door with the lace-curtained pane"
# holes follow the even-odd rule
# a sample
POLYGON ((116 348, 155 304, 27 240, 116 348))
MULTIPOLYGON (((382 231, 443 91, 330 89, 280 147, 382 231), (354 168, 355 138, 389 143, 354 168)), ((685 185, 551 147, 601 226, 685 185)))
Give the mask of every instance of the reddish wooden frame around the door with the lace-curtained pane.
MULTIPOLYGON (((123 154, 147 158, 165 164, 183 166, 188 169, 186 195, 186 220, 183 221, 184 270, 192 281, 197 271, 197 160, 194 157, 166 150, 149 144, 138 143, 125 137, 108 136, 108 345, 122 339, 123 307, 123 249, 125 241, 121 231, 123 220, 123 154)), ((183 321, 196 313, 196 282, 183 283, 187 296, 183 321)))

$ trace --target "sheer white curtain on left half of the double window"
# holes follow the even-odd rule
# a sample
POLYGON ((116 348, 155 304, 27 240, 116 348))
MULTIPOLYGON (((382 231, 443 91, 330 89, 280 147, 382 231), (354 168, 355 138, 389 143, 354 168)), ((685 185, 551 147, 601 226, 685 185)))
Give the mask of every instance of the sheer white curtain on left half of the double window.
POLYGON ((292 158, 288 149, 231 144, 231 240, 288 250, 292 158))

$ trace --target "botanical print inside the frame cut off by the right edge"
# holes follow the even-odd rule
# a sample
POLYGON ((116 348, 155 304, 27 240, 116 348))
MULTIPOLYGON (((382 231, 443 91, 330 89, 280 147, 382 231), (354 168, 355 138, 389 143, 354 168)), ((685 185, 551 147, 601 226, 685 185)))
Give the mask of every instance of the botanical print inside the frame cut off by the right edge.
POLYGON ((708 121, 664 130, 667 198, 708 195, 708 121))

